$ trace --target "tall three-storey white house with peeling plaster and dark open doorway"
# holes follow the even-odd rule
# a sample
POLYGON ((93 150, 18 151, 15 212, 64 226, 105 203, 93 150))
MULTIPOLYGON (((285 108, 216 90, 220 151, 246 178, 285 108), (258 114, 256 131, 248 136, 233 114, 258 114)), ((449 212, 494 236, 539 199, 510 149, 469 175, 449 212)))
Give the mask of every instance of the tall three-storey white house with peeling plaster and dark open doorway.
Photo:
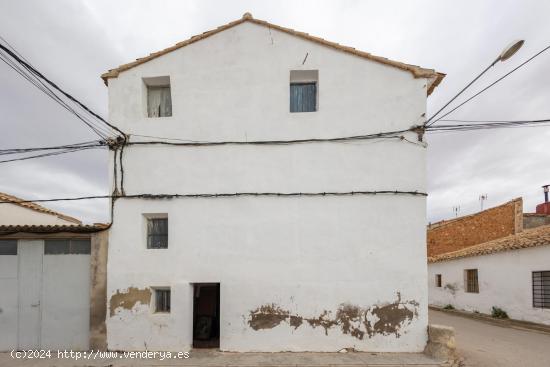
POLYGON ((443 76, 248 13, 104 74, 108 347, 422 351, 443 76))

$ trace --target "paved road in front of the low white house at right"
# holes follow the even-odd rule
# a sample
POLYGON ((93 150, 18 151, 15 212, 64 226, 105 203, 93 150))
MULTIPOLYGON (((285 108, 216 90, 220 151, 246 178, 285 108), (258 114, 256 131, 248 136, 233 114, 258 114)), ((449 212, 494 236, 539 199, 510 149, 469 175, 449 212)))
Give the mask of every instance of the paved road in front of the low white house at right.
POLYGON ((455 328, 466 367, 550 367, 550 335, 430 310, 430 323, 455 328))

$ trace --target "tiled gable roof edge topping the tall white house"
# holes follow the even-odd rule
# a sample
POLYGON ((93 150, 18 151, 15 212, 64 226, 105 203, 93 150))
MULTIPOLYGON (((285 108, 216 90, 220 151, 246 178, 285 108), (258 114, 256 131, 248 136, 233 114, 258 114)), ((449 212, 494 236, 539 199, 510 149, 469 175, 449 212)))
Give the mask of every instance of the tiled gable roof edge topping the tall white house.
POLYGON ((160 57, 164 54, 167 54, 167 53, 172 52, 174 50, 177 50, 179 48, 182 48, 182 47, 185 47, 185 46, 190 45, 192 43, 203 40, 203 39, 205 39, 207 37, 210 37, 214 34, 223 32, 223 31, 225 31, 229 28, 235 27, 235 26, 237 26, 241 23, 244 23, 244 22, 250 22, 250 23, 258 24, 258 25, 268 27, 268 28, 271 28, 271 29, 276 29, 278 31, 281 31, 281 32, 284 32, 284 33, 287 33, 287 34, 291 34, 293 36, 300 37, 302 39, 321 44, 323 46, 331 47, 333 49, 336 49, 336 50, 339 50, 339 51, 342 51, 342 52, 350 53, 350 54, 353 54, 353 55, 356 55, 356 56, 359 56, 359 57, 363 57, 365 59, 369 59, 369 60, 376 61, 376 62, 385 64, 385 65, 393 66, 393 67, 396 67, 398 69, 402 69, 402 70, 405 70, 405 71, 408 71, 408 72, 412 73, 415 78, 427 78, 428 79, 428 95, 430 95, 433 92, 435 87, 437 87, 437 85, 439 85, 439 83, 441 83, 441 80, 443 80, 443 78, 445 77, 445 74, 439 73, 439 72, 437 72, 433 69, 425 69, 425 68, 422 68, 420 66, 405 64, 405 63, 402 63, 402 62, 399 62, 399 61, 393 61, 393 60, 387 59, 385 57, 372 55, 368 52, 359 51, 359 50, 356 50, 353 47, 343 46, 343 45, 340 45, 339 43, 336 43, 336 42, 327 41, 323 38, 312 36, 308 33, 299 32, 299 31, 295 31, 294 29, 281 27, 281 26, 278 26, 276 24, 269 23, 265 20, 254 19, 252 17, 252 14, 245 13, 241 19, 238 19, 238 20, 235 20, 233 22, 227 23, 227 24, 222 25, 222 26, 220 26, 216 29, 206 31, 202 34, 195 35, 195 36, 193 36, 193 37, 191 37, 191 38, 189 38, 185 41, 176 43, 172 47, 168 47, 168 48, 165 48, 164 50, 154 52, 154 53, 150 54, 149 56, 139 58, 136 61, 130 62, 128 64, 120 65, 119 67, 117 67, 115 69, 110 69, 108 72, 102 74, 101 78, 105 82, 105 85, 107 85, 110 78, 116 78, 118 76, 118 74, 120 74, 123 71, 131 69, 131 68, 136 67, 138 65, 141 65, 141 64, 146 63, 148 61, 151 61, 153 59, 156 59, 157 57, 160 57))

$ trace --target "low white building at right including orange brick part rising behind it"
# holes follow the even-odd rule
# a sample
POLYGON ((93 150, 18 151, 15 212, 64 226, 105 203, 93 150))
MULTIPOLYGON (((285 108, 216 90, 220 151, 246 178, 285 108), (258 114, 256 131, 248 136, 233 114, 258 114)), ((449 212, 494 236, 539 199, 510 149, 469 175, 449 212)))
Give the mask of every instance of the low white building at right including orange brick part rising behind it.
POLYGON ((522 207, 519 198, 429 227, 430 304, 550 325, 550 215, 522 207))

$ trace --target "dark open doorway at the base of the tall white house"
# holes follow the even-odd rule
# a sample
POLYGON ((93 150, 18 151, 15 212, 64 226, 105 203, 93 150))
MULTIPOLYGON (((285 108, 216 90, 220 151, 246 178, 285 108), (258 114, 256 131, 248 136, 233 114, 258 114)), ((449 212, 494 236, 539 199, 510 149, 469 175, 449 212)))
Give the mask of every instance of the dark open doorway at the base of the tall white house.
POLYGON ((193 348, 220 347, 220 284, 195 283, 193 348))

